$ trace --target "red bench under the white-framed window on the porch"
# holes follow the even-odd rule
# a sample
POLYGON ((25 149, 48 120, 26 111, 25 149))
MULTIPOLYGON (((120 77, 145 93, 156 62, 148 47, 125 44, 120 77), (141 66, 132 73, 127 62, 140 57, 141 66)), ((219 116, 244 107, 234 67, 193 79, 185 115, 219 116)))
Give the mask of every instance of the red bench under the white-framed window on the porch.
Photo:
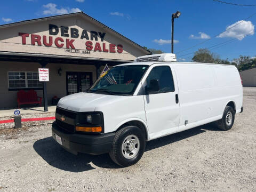
POLYGON ((20 108, 20 105, 22 105, 22 104, 38 103, 38 104, 40 104, 40 107, 42 105, 42 97, 38 97, 37 93, 34 90, 29 90, 27 92, 24 90, 20 90, 17 93, 17 97, 18 97, 17 98, 18 108, 20 108))

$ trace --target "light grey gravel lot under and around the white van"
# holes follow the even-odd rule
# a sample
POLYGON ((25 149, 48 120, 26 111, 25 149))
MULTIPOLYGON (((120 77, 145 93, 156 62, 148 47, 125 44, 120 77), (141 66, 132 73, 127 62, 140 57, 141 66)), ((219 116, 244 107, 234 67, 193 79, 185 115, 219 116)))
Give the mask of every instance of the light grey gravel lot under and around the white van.
POLYGON ((2 133, 0 191, 256 191, 256 87, 244 87, 243 106, 231 130, 207 124, 149 141, 126 168, 108 154, 69 154, 51 121, 2 133))

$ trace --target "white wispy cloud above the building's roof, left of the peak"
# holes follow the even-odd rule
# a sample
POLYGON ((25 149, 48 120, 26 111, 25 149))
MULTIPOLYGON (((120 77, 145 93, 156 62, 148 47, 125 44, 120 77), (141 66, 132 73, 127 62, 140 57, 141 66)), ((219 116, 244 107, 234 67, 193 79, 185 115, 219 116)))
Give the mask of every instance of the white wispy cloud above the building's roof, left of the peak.
POLYGON ((60 9, 57 8, 56 4, 53 3, 48 3, 46 5, 43 5, 43 8, 45 9, 43 11, 44 15, 54 15, 54 14, 67 14, 67 13, 76 13, 80 12, 81 10, 78 8, 63 8, 61 7, 60 9))

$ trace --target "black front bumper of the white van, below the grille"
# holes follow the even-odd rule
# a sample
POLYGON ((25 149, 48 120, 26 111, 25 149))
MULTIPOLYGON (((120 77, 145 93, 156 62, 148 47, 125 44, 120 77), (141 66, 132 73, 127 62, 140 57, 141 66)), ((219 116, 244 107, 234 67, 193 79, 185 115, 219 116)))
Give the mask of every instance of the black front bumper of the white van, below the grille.
POLYGON ((61 146, 70 153, 87 153, 91 155, 108 153, 115 137, 115 132, 99 135, 68 133, 60 129, 57 124, 53 123, 52 137, 55 141, 56 134, 61 137, 61 146))

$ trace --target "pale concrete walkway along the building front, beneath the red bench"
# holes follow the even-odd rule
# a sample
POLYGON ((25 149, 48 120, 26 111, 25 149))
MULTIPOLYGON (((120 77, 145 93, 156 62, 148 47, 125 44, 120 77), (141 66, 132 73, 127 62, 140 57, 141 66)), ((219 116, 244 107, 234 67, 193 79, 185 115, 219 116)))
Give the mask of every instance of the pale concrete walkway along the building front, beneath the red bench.
MULTIPOLYGON (((14 116, 14 110, 16 109, 0 110, 0 117, 14 116)), ((56 106, 49 106, 47 112, 44 111, 44 107, 21 108, 19 110, 21 115, 48 113, 48 112, 55 112, 56 106)))

